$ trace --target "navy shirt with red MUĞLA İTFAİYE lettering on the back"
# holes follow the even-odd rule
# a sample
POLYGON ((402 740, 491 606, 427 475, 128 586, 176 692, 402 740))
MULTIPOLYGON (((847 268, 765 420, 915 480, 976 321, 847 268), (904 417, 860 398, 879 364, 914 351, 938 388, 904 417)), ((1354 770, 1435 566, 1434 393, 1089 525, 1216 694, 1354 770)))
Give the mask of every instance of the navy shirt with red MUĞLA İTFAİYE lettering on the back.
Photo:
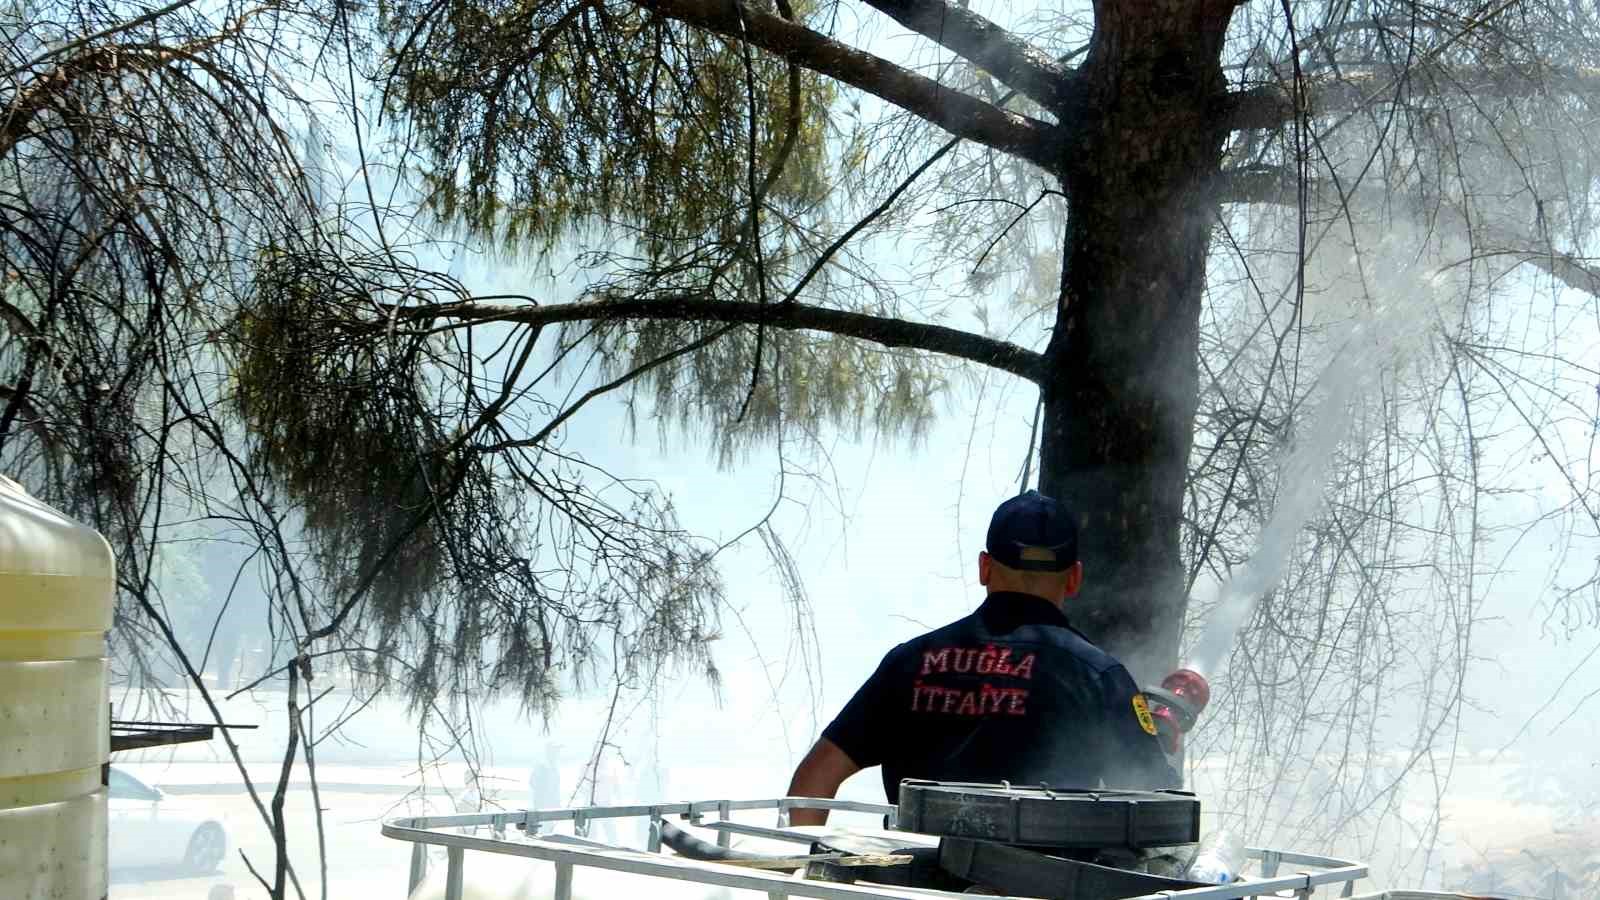
POLYGON ((995 593, 894 647, 822 732, 883 793, 901 778, 1154 790, 1181 785, 1128 669, 1054 604, 995 593))

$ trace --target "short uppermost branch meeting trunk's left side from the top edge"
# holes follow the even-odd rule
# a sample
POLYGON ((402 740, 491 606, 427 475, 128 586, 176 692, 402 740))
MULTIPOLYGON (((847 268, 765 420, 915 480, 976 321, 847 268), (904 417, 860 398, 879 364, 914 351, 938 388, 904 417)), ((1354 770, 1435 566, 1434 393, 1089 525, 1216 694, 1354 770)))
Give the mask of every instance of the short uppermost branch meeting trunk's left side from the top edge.
POLYGON ((990 72, 1045 109, 1072 104, 1072 70, 984 16, 946 0, 867 0, 874 10, 990 72))

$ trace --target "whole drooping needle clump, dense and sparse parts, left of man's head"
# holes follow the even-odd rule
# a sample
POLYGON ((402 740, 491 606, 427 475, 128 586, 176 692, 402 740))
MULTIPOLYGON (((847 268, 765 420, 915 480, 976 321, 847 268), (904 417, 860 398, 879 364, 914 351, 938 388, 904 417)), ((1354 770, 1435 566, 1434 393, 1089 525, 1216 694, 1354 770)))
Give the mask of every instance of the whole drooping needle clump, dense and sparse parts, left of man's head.
POLYGON ((251 466, 307 546, 285 597, 306 637, 421 713, 510 693, 549 714, 602 673, 715 681, 712 552, 670 503, 597 487, 554 437, 486 445, 483 423, 510 413, 451 375, 459 348, 373 315, 394 277, 384 255, 272 250, 229 331, 251 466))

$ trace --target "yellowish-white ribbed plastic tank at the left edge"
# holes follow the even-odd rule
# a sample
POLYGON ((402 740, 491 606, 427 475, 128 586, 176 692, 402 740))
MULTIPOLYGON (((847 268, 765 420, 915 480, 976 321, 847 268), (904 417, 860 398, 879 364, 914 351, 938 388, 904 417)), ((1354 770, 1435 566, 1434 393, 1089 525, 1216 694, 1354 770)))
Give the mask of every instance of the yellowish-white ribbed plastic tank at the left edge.
POLYGON ((99 533, 0 476, 0 897, 106 897, 110 756, 99 533))

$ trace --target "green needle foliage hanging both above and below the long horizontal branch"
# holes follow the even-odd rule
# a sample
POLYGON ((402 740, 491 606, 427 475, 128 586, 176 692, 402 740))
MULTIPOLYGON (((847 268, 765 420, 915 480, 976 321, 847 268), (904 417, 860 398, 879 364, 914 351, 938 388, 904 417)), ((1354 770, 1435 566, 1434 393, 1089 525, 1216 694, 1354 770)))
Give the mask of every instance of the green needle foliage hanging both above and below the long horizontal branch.
MULTIPOLYGON (((398 2, 379 30, 387 102, 443 223, 507 251, 603 234, 582 259, 603 279, 587 296, 795 299, 784 291, 816 258, 837 171, 835 82, 626 2, 398 2)), ((896 306, 870 290, 824 272, 805 299, 896 306)), ((712 434, 723 464, 786 421, 915 440, 950 368, 758 325, 618 322, 587 336, 606 376, 648 370, 635 400, 662 429, 712 434)))

